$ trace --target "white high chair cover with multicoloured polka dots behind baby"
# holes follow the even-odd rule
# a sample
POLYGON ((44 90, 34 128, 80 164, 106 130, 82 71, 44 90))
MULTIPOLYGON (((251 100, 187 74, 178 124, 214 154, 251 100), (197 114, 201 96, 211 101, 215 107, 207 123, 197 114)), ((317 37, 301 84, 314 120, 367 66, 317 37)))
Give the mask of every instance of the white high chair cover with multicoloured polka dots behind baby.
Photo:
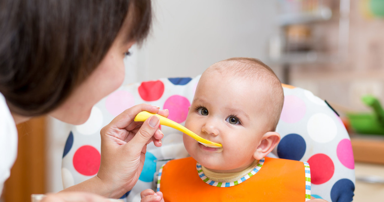
MULTIPOLYGON (((96 175, 100 165, 100 129, 126 108, 150 103, 168 109, 168 118, 184 124, 199 78, 163 78, 123 85, 96 104, 88 121, 74 126, 66 141, 62 161, 64 188, 96 175)), ((329 202, 352 201, 354 159, 351 141, 340 118, 310 91, 289 85, 283 85, 283 89, 285 101, 277 126, 281 141, 270 156, 307 161, 311 166, 314 197, 329 202)), ((181 132, 167 126, 161 126, 161 130, 163 145, 160 148, 148 145, 139 181, 122 199, 140 201, 140 192, 153 187, 159 162, 188 156, 181 132)))

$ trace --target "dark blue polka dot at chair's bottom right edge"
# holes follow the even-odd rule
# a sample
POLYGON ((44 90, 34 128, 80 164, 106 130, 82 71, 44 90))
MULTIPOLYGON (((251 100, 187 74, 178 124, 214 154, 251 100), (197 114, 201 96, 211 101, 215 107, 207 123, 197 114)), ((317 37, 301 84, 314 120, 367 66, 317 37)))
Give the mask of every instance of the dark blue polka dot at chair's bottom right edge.
POLYGON ((331 189, 332 202, 345 201, 349 202, 353 200, 353 191, 355 191, 355 185, 349 179, 340 179, 337 181, 331 189))

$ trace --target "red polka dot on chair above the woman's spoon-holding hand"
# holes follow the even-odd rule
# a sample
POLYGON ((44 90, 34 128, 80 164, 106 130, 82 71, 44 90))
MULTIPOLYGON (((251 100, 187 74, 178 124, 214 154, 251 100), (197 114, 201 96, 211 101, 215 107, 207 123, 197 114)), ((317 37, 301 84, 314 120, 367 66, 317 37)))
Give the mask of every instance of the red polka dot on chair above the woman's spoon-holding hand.
POLYGON ((161 98, 164 93, 164 84, 160 80, 142 82, 139 86, 141 99, 155 101, 161 98))

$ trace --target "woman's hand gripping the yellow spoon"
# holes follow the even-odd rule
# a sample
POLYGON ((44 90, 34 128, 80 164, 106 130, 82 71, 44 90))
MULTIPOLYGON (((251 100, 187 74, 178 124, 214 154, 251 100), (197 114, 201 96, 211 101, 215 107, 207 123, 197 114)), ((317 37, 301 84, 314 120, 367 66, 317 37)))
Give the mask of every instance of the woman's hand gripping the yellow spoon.
POLYGON ((145 122, 134 122, 139 112, 148 111, 168 117, 168 110, 140 104, 135 105, 101 129, 101 164, 97 176, 114 191, 108 197, 120 197, 131 190, 141 174, 147 144, 161 146, 163 133, 159 118, 149 117, 145 122))

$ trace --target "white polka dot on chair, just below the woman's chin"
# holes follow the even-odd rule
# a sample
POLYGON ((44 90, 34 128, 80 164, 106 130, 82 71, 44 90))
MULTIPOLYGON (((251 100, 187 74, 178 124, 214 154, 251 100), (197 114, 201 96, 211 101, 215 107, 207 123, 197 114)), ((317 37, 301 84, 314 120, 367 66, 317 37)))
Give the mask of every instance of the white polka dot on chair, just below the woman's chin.
POLYGON ((99 108, 93 107, 88 120, 85 123, 76 126, 76 130, 83 135, 91 135, 93 133, 98 132, 103 126, 102 124, 103 113, 101 113, 101 110, 99 110, 99 108))

